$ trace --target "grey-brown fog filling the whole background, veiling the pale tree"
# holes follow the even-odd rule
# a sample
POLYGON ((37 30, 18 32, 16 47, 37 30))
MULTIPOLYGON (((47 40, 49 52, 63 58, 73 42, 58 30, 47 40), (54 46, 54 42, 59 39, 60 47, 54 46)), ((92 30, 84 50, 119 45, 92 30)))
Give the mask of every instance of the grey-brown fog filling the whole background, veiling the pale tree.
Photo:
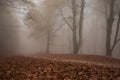
MULTIPOLYGON (((34 7, 26 6, 26 3, 23 2, 24 5, 20 5, 20 9, 11 5, 11 8, 1 8, 1 54, 77 53, 106 55, 106 12, 108 12, 107 19, 109 19, 110 12, 104 6, 109 7, 110 0, 108 2, 104 0, 101 0, 101 2, 99 0, 85 0, 83 18, 79 19, 79 13, 82 12, 81 1, 76 0, 75 5, 78 3, 77 9, 74 8, 71 0, 35 0, 31 1, 34 7), (25 10, 22 8, 23 6, 26 8, 25 10), (76 15, 75 19, 74 15, 76 15), (79 20, 82 22, 79 22, 79 20), (76 21, 76 27, 77 25, 79 26, 78 29, 75 28, 76 42, 77 44, 80 43, 80 46, 77 47, 79 50, 76 53, 74 53, 74 31, 69 26, 71 25, 74 29, 74 21, 76 21), (79 32, 79 28, 81 32, 79 32), (80 33, 82 34, 80 35, 80 33)), ((119 23, 119 2, 117 0, 115 3, 116 6, 114 7, 114 22, 112 23, 110 38, 111 46, 114 44, 117 23, 119 23)), ((112 51, 112 57, 120 59, 120 30, 118 30, 117 34, 118 42, 112 51)))

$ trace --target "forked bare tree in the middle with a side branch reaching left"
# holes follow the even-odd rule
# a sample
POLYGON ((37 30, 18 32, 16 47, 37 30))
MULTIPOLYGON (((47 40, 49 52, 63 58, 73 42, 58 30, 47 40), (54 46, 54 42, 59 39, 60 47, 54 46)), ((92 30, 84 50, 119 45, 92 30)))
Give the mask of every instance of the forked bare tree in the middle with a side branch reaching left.
POLYGON ((84 16, 84 8, 85 8, 85 0, 81 0, 80 5, 77 4, 77 0, 71 0, 72 7, 72 16, 66 18, 63 14, 63 10, 61 9, 61 16, 65 23, 72 31, 72 41, 73 41, 73 53, 77 54, 81 47, 82 43, 82 27, 83 27, 83 16, 84 16), (78 9, 79 8, 79 9, 78 9), (79 19, 78 19, 79 16, 79 19), (72 18, 72 19, 71 19, 72 18), (69 19, 72 20, 72 24, 70 24, 69 19))

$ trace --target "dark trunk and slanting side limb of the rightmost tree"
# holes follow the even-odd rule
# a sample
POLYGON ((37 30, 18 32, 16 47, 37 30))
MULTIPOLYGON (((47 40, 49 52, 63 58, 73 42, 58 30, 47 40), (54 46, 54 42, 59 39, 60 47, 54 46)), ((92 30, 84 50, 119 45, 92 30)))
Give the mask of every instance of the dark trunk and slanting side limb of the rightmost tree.
POLYGON ((119 10, 119 15, 118 15, 118 20, 117 20, 117 28, 115 32, 115 38, 113 44, 111 44, 111 34, 112 34, 112 29, 113 29, 113 23, 115 22, 115 1, 116 0, 110 0, 109 3, 109 16, 106 19, 106 24, 107 24, 107 30, 106 30, 106 55, 107 56, 112 56, 113 49, 115 48, 116 44, 120 41, 118 39, 118 34, 119 34, 119 24, 120 24, 120 10, 119 10))

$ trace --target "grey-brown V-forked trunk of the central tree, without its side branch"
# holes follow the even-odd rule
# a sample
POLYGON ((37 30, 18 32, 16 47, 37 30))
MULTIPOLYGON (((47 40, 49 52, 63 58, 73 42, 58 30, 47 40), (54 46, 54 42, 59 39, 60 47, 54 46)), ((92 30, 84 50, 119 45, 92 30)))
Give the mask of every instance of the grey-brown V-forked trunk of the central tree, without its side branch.
POLYGON ((74 47, 74 54, 77 54, 81 48, 82 43, 82 27, 83 27, 83 16, 84 16, 84 7, 85 7, 85 1, 82 0, 81 2, 81 10, 80 10, 80 17, 79 17, 79 25, 76 24, 76 7, 75 7, 75 1, 72 0, 73 5, 73 47, 74 47), (78 32, 78 41, 77 41, 77 27, 79 29, 78 32))

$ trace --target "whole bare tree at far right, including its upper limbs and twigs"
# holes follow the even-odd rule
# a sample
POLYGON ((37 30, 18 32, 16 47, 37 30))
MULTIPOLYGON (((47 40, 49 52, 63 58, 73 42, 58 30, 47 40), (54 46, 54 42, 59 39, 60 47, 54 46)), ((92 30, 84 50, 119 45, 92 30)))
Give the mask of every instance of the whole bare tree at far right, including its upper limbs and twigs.
MULTIPOLYGON (((99 0, 97 1, 99 2, 99 0)), ((120 26, 120 7, 119 0, 101 0, 103 11, 99 12, 104 13, 105 21, 106 21, 106 55, 112 56, 113 50, 117 43, 120 41, 119 39, 119 26, 120 26), (117 16, 117 19, 115 18, 117 16), (114 24, 116 23, 116 24, 114 24), (112 36, 114 33, 113 28, 116 27, 115 37, 112 36), (114 38, 113 38, 114 37, 114 38), (113 38, 113 40, 112 40, 113 38)), ((95 9, 95 8, 94 8, 95 9)))

